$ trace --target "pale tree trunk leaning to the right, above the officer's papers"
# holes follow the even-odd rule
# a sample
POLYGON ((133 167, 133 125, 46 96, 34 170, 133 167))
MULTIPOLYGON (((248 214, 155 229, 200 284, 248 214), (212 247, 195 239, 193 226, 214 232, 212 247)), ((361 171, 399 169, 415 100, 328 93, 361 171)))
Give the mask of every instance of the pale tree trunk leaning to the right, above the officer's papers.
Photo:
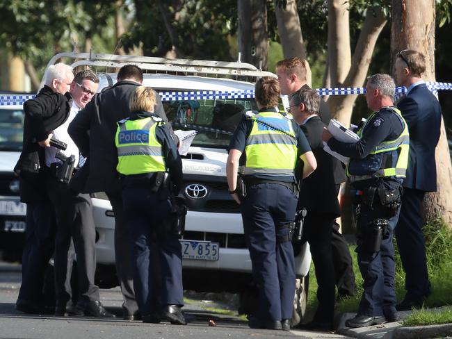
MULTIPOLYGON (((386 24, 385 16, 381 8, 368 8, 364 24, 358 38, 351 67, 345 80, 342 82, 343 87, 358 87, 362 86, 366 80, 367 71, 371 63, 373 49, 377 42, 383 27, 386 24)), ((328 63, 330 63, 330 48, 328 44, 328 63)), ((331 66, 330 66, 331 67, 331 66)), ((330 68, 330 76, 334 74, 334 67, 330 68)), ((337 73, 338 74, 338 73, 337 73)), ((331 80, 331 85, 334 83, 331 80)), ((352 117, 353 104, 357 95, 332 95, 328 98, 327 104, 332 111, 332 117, 338 119, 342 124, 348 126, 352 117)))

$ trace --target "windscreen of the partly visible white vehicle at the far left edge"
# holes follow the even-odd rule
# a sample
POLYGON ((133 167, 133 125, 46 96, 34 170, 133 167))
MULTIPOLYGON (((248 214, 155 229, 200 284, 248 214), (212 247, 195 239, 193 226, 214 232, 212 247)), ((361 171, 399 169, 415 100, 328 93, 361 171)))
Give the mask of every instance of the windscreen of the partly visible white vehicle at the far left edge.
POLYGON ((0 151, 21 151, 24 132, 22 108, 0 108, 0 151))

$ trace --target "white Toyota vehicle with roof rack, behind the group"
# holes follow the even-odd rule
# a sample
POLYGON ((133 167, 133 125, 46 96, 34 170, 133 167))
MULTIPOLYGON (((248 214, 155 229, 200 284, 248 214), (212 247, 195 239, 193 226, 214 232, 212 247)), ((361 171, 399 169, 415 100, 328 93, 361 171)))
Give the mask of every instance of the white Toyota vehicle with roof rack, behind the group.
MULTIPOLYGON (((179 199, 184 199, 188 208, 181 239, 184 289, 241 293, 241 309, 246 312, 253 288, 251 260, 239 206, 227 192, 227 147, 243 114, 257 109, 255 81, 275 74, 245 63, 92 53, 60 53, 49 65, 61 57, 74 58, 73 67, 88 65, 96 70, 101 79, 99 91, 115 83, 119 67, 138 65, 145 70, 143 85, 159 92, 172 128, 197 132, 188 153, 182 156, 184 186, 179 199)), ((92 195, 92 205, 97 282, 111 286, 115 284, 113 210, 102 192, 92 195)), ((310 262, 309 247, 302 245, 296 254, 295 322, 305 311, 310 262)))

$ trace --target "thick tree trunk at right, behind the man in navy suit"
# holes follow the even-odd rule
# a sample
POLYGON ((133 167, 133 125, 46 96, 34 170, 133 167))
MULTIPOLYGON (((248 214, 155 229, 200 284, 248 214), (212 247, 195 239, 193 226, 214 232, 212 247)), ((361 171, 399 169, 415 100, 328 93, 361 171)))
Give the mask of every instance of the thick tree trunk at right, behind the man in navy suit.
MULTIPOLYGON (((415 49, 426 56, 426 81, 435 81, 435 0, 393 0, 391 52, 392 64, 403 49, 415 49)), ((435 152, 437 169, 437 192, 428 193, 423 203, 427 221, 442 217, 452 224, 452 167, 447 144, 444 121, 435 152)))

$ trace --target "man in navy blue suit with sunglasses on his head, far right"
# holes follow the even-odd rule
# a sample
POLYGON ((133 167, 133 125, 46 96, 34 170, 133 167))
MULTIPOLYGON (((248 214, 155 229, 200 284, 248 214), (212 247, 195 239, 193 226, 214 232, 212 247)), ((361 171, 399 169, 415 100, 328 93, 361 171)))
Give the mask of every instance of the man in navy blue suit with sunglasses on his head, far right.
POLYGON ((410 131, 410 156, 396 227, 407 291, 403 301, 397 305, 399 311, 421 306, 430 295, 421 211, 426 192, 437 189, 435 147, 441 127, 441 106, 421 78, 425 70, 426 60, 422 53, 405 50, 397 54, 396 82, 407 88, 397 107, 410 131))

